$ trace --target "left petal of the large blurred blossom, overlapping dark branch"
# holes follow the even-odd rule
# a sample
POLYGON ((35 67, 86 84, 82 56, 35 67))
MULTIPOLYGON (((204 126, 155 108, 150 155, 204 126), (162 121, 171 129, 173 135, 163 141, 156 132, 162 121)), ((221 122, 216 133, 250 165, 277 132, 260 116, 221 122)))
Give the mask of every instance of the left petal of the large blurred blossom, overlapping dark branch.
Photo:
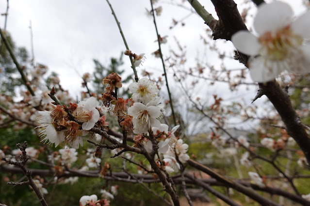
POLYGON ((236 49, 247 55, 257 55, 261 48, 258 38, 248 31, 238 31, 231 37, 236 49))

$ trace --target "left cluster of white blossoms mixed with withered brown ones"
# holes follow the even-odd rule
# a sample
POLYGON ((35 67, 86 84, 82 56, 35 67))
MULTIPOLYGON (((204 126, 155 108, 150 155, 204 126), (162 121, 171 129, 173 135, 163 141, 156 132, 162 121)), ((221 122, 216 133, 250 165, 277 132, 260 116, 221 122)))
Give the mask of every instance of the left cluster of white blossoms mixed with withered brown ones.
POLYGON ((78 104, 70 103, 68 108, 57 105, 53 106, 51 112, 39 111, 41 116, 36 119, 40 124, 37 128, 41 130, 42 141, 55 144, 55 147, 61 142, 73 148, 83 146, 82 136, 87 135, 99 120, 97 105, 97 99, 91 97, 78 104), (75 121, 68 116, 65 109, 70 111, 75 121))

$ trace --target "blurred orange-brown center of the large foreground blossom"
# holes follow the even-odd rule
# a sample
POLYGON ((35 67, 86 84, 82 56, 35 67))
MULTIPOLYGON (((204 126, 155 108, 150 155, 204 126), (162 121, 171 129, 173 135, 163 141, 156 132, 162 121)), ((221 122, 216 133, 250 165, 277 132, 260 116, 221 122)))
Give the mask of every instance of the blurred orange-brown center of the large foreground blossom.
POLYGON ((276 32, 267 31, 259 37, 263 45, 261 53, 271 60, 283 60, 291 49, 302 44, 303 38, 293 34, 290 25, 278 29, 276 32))

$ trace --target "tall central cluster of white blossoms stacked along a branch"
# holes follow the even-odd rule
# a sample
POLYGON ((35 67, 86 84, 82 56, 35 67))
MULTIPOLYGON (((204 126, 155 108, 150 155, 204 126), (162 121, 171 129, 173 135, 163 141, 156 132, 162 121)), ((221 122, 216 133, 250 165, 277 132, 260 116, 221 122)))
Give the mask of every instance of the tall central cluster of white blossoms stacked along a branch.
POLYGON ((165 112, 162 97, 158 97, 156 84, 141 78, 138 82, 129 85, 132 92, 132 106, 128 108, 128 115, 132 117, 133 133, 136 142, 142 144, 148 153, 153 151, 154 138, 157 142, 158 153, 163 154, 163 167, 168 172, 178 172, 179 162, 189 160, 187 154, 188 145, 181 139, 177 139, 175 132, 179 128, 175 126, 169 132, 166 124, 161 124, 160 119, 165 112), (153 140, 152 140, 153 139, 153 140))

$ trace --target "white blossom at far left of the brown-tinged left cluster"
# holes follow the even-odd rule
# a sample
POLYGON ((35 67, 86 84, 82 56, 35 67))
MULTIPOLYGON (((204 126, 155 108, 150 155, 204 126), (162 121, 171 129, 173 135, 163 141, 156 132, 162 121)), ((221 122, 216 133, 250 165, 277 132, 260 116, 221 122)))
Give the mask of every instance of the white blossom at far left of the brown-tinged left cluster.
POLYGON ((64 131, 56 131, 52 125, 52 118, 50 117, 49 111, 39 111, 39 114, 41 117, 36 118, 36 120, 40 126, 36 128, 42 130, 40 132, 40 137, 43 138, 42 141, 47 142, 49 140, 50 144, 55 144, 55 147, 57 147, 60 142, 65 141, 64 131))

